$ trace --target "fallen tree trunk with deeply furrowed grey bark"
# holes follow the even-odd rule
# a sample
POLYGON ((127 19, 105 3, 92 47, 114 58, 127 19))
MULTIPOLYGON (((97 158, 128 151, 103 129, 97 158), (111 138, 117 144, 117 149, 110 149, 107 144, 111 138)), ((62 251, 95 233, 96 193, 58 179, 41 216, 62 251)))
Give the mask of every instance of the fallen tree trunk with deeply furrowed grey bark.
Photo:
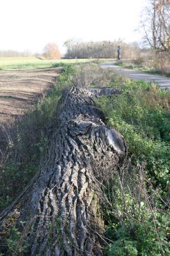
POLYGON ((1 252, 15 227, 13 255, 102 255, 100 184, 123 161, 124 140, 77 87, 63 93, 50 133, 39 172, 1 213, 1 252))

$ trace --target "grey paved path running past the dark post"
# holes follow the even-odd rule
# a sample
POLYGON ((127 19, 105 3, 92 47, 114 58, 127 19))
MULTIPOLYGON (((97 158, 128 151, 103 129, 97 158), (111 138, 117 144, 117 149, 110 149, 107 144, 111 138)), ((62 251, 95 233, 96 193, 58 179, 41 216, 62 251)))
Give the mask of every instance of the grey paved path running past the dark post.
POLYGON ((122 68, 114 65, 114 62, 101 63, 100 67, 108 70, 113 70, 124 76, 130 77, 133 80, 143 80, 147 82, 157 83, 162 89, 170 90, 170 77, 163 77, 159 75, 147 74, 146 72, 136 71, 128 68, 122 68))

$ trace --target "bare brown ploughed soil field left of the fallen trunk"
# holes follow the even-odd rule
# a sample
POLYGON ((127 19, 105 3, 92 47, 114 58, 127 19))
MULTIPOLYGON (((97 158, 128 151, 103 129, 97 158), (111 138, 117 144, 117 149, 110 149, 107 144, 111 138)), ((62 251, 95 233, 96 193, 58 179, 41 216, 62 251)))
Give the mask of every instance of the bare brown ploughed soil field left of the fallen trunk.
POLYGON ((0 124, 9 124, 26 113, 54 86, 61 68, 0 72, 0 124))

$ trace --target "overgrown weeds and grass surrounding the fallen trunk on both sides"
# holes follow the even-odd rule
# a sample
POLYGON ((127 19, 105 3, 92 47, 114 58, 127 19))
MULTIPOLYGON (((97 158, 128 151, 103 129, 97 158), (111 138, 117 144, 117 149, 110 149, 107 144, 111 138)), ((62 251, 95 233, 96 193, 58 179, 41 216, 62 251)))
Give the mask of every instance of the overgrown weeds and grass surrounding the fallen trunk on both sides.
MULTIPOLYGON (((125 163, 104 184, 105 255, 169 255, 170 93, 100 70, 94 63, 66 67, 50 94, 8 130, 8 161, 0 174, 1 209, 38 170, 58 99, 63 88, 73 84, 121 87, 116 97, 96 99, 107 124, 118 129, 128 145, 125 163)), ((8 237, 9 255, 20 239, 18 232, 14 227, 8 237)))

